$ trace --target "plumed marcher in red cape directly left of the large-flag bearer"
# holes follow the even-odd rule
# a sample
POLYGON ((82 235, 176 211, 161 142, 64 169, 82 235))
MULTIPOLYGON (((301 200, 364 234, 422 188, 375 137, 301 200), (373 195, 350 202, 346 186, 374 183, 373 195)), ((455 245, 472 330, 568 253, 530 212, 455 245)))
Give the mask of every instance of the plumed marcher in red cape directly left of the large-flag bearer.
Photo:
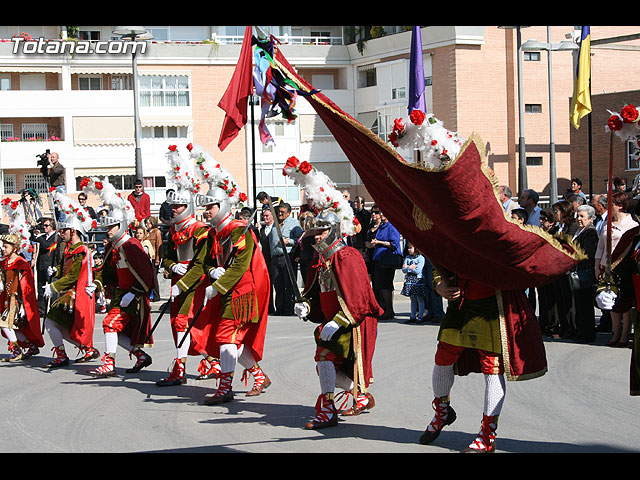
POLYGON ((295 157, 287 160, 283 174, 301 186, 319 211, 305 226, 303 235, 315 237, 315 252, 303 301, 294 306, 298 317, 319 324, 314 332, 314 360, 320 395, 315 417, 305 424, 306 429, 315 430, 337 425, 339 414, 358 415, 374 407, 369 386, 377 319, 383 310, 370 283, 363 281, 368 275, 362 255, 344 242, 361 226, 342 193, 324 173, 295 157), (343 391, 334 395, 336 387, 343 391), (346 408, 349 393, 352 407, 346 408), (338 403, 340 397, 344 401, 338 403))

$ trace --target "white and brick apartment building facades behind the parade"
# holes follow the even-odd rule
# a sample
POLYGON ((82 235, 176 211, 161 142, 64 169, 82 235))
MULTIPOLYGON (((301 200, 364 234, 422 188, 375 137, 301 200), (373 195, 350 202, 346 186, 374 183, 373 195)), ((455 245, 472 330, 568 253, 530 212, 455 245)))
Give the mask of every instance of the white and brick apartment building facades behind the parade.
MULTIPOLYGON (((387 138, 393 120, 405 116, 408 95, 410 31, 370 39, 364 50, 345 41, 340 26, 263 27, 281 42, 280 48, 298 73, 321 89, 344 111, 387 138)), ((117 40, 113 26, 80 26, 78 38, 95 44, 117 40)), ((137 73, 140 148, 146 191, 152 211, 164 200, 167 183, 165 152, 171 144, 201 145, 235 177, 250 198, 267 191, 292 205, 300 192, 282 175, 282 165, 295 155, 325 171, 352 195, 370 200, 366 187, 326 127, 304 99, 291 123, 271 119, 275 145, 265 147, 251 122, 225 149, 218 137, 224 112, 217 107, 238 61, 244 27, 148 26, 152 38, 138 53, 137 73), (252 138, 253 137, 253 138, 252 138), (252 141, 253 140, 253 141, 252 141)), ((574 26, 551 27, 551 42, 575 34, 574 26)), ((638 33, 640 27, 592 27, 592 38, 638 33)), ((545 41, 547 27, 522 27, 522 40, 545 41)), ((497 26, 422 27, 427 110, 463 138, 478 134, 489 165, 501 183, 517 191, 518 72, 516 32, 497 26)), ((0 26, 0 172, 3 195, 20 190, 44 192, 46 185, 36 156, 49 149, 60 154, 70 194, 86 175, 108 176, 131 190, 135 179, 134 95, 132 56, 124 49, 111 53, 62 52, 53 46, 64 27, 0 26), (14 36, 43 39, 42 52, 25 52, 14 36), (26 35, 25 35, 26 36, 26 35), (51 39, 51 40, 49 40, 51 39), (46 40, 46 41, 45 41, 46 40)), ((636 41, 593 48, 592 85, 596 91, 633 90, 625 68, 638 61, 636 41), (614 46, 626 48, 613 48, 614 46)), ((529 187, 548 193, 549 89, 547 52, 523 55, 524 136, 529 187)), ((569 102, 574 58, 553 52, 554 142, 559 191, 573 176, 569 102)), ((257 122, 260 106, 253 114, 257 122)), ((251 117, 250 117, 251 118, 251 117)), ((410 158, 411 152, 400 152, 410 158)), ((90 199, 90 202, 95 199, 90 199)), ((46 209, 46 201, 44 202, 46 209)))

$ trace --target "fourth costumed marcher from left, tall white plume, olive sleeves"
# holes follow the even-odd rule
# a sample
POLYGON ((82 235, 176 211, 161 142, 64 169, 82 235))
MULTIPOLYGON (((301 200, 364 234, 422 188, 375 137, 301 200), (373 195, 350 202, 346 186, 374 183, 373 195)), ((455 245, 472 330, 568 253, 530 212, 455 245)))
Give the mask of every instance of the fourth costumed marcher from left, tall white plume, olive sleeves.
MULTIPOLYGON (((191 173, 191 165, 180 156, 177 146, 169 146, 166 156, 169 162, 168 178, 175 185, 175 190, 167 195, 172 217, 162 266, 165 277, 171 278, 169 312, 176 358, 169 375, 156 382, 160 387, 187 383, 186 364, 189 355, 203 357, 198 366, 198 379, 209 378, 219 370, 218 359, 204 349, 206 338, 201 337, 201 329, 194 328, 185 337, 208 285, 202 265, 207 253, 205 247, 209 226, 195 218, 194 197, 200 185, 191 173)), ((205 318, 201 315, 198 322, 205 318)))

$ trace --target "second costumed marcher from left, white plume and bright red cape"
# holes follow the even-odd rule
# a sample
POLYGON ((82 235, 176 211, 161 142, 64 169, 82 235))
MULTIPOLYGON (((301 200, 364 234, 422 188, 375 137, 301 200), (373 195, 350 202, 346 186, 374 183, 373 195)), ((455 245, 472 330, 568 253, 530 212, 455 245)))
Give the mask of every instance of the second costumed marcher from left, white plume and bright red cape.
POLYGON ((97 222, 89 212, 69 197, 58 191, 52 191, 54 205, 66 218, 57 223, 64 250, 57 266, 51 267, 52 283, 44 286, 44 295, 58 298, 51 304, 44 320, 44 326, 53 343, 54 358, 45 364, 48 368, 59 368, 69 364, 64 340, 76 346, 81 356, 75 363, 84 363, 100 356, 93 347, 93 331, 96 307, 93 294, 93 272, 91 254, 81 237, 87 235, 97 222))

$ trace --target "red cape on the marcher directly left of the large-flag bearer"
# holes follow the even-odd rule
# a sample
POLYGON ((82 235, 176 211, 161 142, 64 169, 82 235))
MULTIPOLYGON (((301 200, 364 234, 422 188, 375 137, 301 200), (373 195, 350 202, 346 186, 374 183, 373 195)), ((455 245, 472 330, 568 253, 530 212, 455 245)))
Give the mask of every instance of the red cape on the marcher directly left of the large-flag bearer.
MULTIPOLYGON (((315 254, 315 259, 318 254, 315 254)), ((376 348, 378 317, 384 313, 369 284, 367 266, 362 255, 353 247, 342 247, 331 256, 340 295, 349 313, 360 326, 361 358, 365 387, 373 379, 373 353, 376 348)), ((311 268, 305 282, 305 293, 316 281, 316 269, 311 268)))

